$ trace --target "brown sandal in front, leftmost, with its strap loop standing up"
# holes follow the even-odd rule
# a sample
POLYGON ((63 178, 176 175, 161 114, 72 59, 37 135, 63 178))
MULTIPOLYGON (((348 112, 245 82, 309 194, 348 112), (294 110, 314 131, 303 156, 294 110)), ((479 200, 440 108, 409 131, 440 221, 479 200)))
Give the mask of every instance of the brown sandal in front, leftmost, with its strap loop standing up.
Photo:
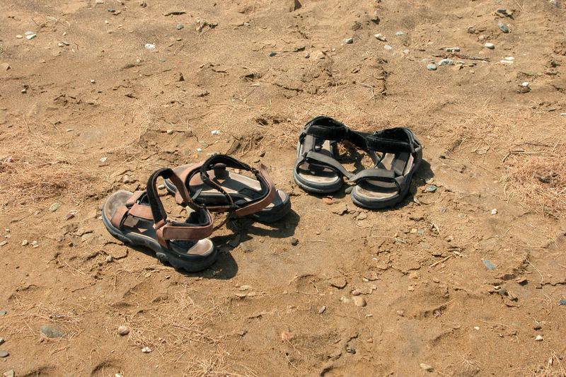
POLYGON ((217 228, 212 226, 212 215, 192 202, 180 178, 170 168, 154 172, 146 191, 120 190, 110 195, 103 207, 102 220, 110 234, 123 243, 154 250, 161 262, 187 272, 206 269, 218 257, 214 243, 207 238, 217 228), (180 187, 183 201, 195 210, 185 222, 167 219, 156 189, 160 176, 180 187))

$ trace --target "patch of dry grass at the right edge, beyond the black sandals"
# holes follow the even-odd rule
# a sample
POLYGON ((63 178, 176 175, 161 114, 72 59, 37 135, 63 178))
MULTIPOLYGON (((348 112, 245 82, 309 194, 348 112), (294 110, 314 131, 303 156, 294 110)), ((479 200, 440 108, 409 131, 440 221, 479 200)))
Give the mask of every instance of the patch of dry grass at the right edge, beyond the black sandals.
POLYGON ((506 160, 506 191, 537 213, 566 214, 566 144, 516 151, 506 160))

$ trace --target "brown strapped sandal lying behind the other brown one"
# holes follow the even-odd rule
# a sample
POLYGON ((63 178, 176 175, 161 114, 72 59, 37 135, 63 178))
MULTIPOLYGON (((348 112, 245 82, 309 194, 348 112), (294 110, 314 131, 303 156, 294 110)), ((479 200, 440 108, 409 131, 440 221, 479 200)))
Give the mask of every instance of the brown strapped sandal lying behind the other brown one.
MULTIPOLYGON (((259 221, 272 223, 282 219, 291 210, 289 195, 277 190, 267 168, 260 170, 226 155, 214 155, 203 163, 193 163, 174 168, 185 183, 192 200, 206 206, 212 212, 224 212, 233 207, 233 216, 254 216, 259 221), (255 175, 250 178, 227 168, 248 171, 255 175)), ((175 195, 178 204, 183 197, 171 180, 165 180, 168 192, 175 195)))

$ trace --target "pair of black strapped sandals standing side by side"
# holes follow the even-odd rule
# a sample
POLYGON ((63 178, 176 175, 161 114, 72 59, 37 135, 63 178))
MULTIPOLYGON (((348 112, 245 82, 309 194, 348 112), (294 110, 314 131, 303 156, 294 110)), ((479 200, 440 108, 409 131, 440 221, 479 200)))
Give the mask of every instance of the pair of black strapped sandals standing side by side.
POLYGON ((331 117, 316 117, 299 134, 293 176, 299 187, 316 194, 336 192, 347 178, 352 202, 381 209, 401 202, 422 161, 422 145, 405 127, 357 132, 331 117), (364 151, 373 167, 352 173, 337 161, 340 142, 364 151))

